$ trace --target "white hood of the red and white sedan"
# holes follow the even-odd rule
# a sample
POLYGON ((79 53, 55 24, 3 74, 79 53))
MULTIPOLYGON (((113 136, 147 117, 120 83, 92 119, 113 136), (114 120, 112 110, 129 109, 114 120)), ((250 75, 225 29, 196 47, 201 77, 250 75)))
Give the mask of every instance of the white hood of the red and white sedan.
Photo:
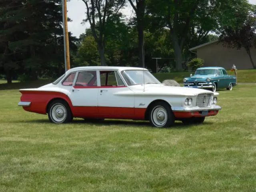
POLYGON ((164 84, 146 84, 145 89, 143 85, 134 85, 130 88, 135 94, 148 94, 148 95, 182 95, 182 96, 196 96, 202 93, 211 93, 218 95, 209 90, 187 87, 166 86, 164 84))

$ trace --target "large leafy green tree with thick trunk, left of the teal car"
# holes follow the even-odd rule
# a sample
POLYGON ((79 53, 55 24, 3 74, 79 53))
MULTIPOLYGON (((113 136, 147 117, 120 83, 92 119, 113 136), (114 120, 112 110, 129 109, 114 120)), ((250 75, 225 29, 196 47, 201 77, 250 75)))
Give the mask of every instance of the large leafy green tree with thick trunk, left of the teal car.
POLYGON ((189 34, 196 32, 201 39, 210 31, 218 31, 227 20, 234 25, 234 11, 243 10, 245 4, 246 0, 149 0, 148 11, 160 25, 169 28, 176 70, 182 70, 189 34))

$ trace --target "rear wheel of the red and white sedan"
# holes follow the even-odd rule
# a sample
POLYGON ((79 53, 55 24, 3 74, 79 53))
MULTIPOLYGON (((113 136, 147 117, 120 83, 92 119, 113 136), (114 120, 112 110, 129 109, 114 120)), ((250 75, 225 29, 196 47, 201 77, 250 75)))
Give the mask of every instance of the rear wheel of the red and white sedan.
POLYGON ((63 100, 55 100, 48 108, 50 122, 67 123, 72 120, 72 113, 68 104, 63 100))

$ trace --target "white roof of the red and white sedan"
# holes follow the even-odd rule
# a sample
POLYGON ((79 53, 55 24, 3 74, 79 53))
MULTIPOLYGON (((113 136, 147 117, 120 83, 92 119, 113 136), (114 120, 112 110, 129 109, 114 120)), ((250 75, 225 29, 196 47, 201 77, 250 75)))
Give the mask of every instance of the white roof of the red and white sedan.
POLYGON ((123 67, 123 66, 83 66, 83 67, 74 67, 68 70, 67 72, 74 72, 80 70, 148 70, 146 68, 140 67, 123 67))

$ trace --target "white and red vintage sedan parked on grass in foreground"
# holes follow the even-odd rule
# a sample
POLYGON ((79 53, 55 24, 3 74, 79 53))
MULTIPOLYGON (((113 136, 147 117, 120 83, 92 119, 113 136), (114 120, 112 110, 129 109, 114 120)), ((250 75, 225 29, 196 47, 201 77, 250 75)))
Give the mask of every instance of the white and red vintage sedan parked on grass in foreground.
POLYGON ((152 126, 170 127, 175 120, 202 123, 221 109, 216 92, 166 86, 147 69, 135 67, 72 68, 50 84, 19 91, 19 106, 48 114, 54 123, 109 118, 149 120, 152 126))

